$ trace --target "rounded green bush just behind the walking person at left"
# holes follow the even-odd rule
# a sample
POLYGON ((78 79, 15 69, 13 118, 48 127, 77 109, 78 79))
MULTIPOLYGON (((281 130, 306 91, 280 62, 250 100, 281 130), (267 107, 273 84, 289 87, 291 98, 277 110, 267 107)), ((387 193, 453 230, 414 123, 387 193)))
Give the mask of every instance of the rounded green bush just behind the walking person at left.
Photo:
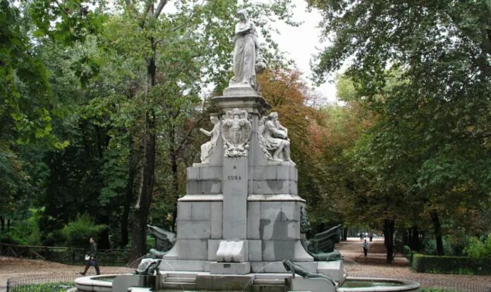
POLYGON ((66 236, 66 245, 71 247, 86 247, 89 243, 89 238, 94 238, 97 241, 100 233, 107 229, 104 224, 95 224, 88 214, 83 214, 77 217, 75 221, 71 221, 63 227, 63 234, 66 236))

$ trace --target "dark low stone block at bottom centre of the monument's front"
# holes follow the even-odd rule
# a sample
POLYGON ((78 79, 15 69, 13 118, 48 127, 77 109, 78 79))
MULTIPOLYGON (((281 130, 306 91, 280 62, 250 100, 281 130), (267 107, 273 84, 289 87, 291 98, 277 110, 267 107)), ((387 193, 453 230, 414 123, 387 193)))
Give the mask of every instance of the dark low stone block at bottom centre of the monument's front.
POLYGON ((254 275, 198 275, 196 276, 196 288, 198 290, 226 290, 245 291, 253 286, 254 275))

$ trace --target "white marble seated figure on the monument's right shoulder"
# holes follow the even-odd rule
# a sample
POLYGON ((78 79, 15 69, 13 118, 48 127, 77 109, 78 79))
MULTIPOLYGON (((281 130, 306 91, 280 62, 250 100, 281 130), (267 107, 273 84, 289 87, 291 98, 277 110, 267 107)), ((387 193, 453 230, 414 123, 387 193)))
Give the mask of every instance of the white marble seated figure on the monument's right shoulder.
POLYGON ((279 123, 277 112, 260 119, 257 135, 262 152, 268 159, 293 163, 290 159, 288 129, 279 123))

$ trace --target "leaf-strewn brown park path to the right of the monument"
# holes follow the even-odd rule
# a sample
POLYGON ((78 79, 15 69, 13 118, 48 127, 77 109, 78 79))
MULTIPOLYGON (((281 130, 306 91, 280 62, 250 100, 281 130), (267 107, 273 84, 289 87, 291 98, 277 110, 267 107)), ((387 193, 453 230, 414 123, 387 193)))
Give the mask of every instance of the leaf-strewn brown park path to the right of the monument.
POLYGON ((491 276, 416 273, 410 269, 410 262, 401 254, 396 255, 392 264, 387 264, 382 238, 374 238, 373 242, 369 242, 369 246, 368 256, 365 257, 360 238, 348 238, 348 241, 335 245, 335 249, 344 256, 344 267, 348 276, 399 278, 421 283, 478 284, 491 291, 491 276))

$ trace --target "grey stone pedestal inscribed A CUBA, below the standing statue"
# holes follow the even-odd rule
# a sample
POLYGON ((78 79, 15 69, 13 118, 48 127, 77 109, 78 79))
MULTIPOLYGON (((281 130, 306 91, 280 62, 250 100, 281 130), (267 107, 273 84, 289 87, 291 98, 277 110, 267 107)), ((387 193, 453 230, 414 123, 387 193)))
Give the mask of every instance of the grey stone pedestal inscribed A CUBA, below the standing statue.
MULTIPOLYGON (((178 200, 176 245, 164 256, 161 270, 281 273, 286 272, 281 260, 292 260, 318 272, 317 262, 301 245, 300 212, 305 200, 298 195, 296 166, 272 161, 260 147, 258 125, 269 104, 252 87, 241 84, 227 87, 222 97, 213 100, 222 110, 222 130, 224 119, 231 119, 231 114, 224 115, 227 111, 242 113, 240 119, 250 125, 243 147, 247 153, 229 157, 230 146, 225 148, 224 140, 230 137, 222 132, 209 163, 188 168, 187 194, 178 200), (224 241, 243 243, 243 260, 224 260, 217 254, 224 241)), ((325 272, 334 271, 326 267, 325 272)))

